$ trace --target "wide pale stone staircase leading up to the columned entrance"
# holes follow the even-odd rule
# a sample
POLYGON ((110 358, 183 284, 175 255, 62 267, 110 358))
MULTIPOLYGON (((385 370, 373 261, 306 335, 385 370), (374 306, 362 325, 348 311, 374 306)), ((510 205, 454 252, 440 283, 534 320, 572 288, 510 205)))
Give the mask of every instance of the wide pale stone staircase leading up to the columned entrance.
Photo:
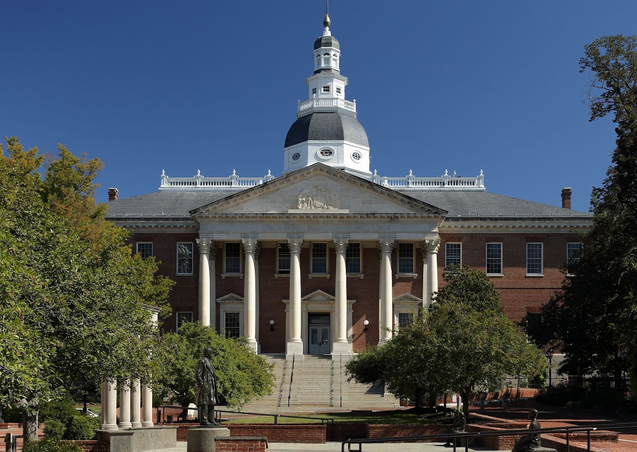
POLYGON ((242 411, 282 413, 334 409, 392 409, 399 402, 385 396, 383 386, 359 385, 347 381, 343 360, 304 355, 303 360, 286 361, 284 355, 262 355, 273 364, 276 383, 272 395, 254 400, 242 411), (294 366, 294 368, 292 368, 294 366))

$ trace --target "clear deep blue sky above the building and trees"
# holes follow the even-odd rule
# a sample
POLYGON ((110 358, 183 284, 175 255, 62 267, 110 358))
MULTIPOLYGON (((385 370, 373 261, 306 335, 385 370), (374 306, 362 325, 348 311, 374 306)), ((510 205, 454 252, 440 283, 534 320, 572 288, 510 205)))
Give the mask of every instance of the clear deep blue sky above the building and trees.
MULTIPOLYGON (((307 98, 322 0, 10 1, 0 135, 99 157, 98 201, 175 177, 263 176, 307 98)), ((332 0, 347 99, 382 176, 475 176, 589 209, 615 145, 588 122, 583 46, 635 34, 637 2, 332 0)))

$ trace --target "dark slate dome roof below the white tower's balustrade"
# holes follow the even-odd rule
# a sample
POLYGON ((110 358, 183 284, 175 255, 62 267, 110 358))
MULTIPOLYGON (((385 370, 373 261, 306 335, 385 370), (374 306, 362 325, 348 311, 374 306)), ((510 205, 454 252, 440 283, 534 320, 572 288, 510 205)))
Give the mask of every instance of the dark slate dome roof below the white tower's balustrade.
POLYGON ((285 136, 285 145, 297 145, 308 140, 349 141, 369 148, 365 129, 356 118, 338 111, 315 112, 298 118, 285 136))

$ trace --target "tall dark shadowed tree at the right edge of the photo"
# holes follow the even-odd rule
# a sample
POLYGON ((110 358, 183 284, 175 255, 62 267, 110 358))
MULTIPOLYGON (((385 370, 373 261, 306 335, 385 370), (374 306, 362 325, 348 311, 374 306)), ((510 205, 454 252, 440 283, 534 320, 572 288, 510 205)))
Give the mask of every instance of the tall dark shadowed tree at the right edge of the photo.
MULTIPOLYGON (((562 371, 608 373, 620 382, 637 364, 637 38, 604 36, 584 52, 590 121, 611 115, 617 141, 603 187, 592 190, 593 222, 580 262, 541 315, 554 323, 554 341, 566 354, 562 371)), ((538 328, 527 331, 538 343, 546 339, 538 328)))

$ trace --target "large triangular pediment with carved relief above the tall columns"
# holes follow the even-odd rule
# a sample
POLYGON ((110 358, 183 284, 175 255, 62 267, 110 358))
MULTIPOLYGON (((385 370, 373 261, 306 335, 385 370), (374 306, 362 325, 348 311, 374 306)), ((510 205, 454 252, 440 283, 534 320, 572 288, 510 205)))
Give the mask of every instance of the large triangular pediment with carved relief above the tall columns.
POLYGON ((447 211, 324 164, 314 164, 190 211, 198 215, 409 215, 447 211))

